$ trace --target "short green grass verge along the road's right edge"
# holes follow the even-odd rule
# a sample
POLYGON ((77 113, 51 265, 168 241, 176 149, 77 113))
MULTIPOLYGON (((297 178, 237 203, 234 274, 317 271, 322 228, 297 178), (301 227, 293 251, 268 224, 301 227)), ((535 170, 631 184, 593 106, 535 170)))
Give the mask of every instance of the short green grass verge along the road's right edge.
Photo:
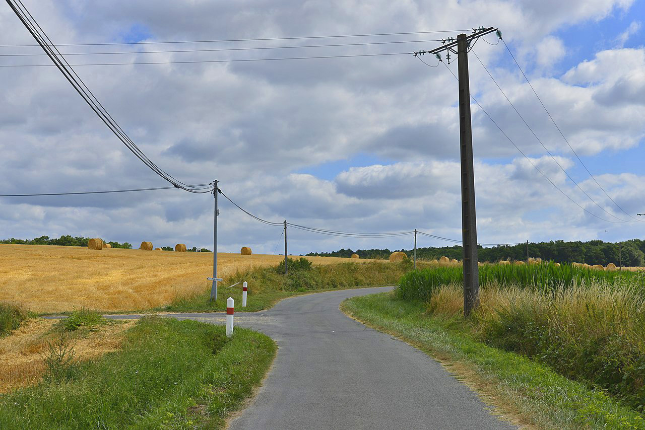
POLYGON ((644 417, 619 400, 530 358, 487 346, 473 337, 468 322, 432 317, 419 300, 386 293, 346 300, 341 309, 455 368, 471 369, 473 385, 522 422, 544 429, 645 429, 644 417))

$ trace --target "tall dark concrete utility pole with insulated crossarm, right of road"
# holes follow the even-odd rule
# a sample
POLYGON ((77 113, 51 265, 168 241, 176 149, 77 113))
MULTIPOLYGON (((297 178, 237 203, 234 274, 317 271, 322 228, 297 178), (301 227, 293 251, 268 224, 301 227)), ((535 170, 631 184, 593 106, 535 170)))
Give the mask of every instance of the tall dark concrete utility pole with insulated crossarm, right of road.
POLYGON ((473 28, 473 34, 460 34, 457 40, 443 40, 443 45, 430 51, 413 52, 414 56, 434 54, 439 61, 441 52, 457 54, 459 77, 459 146, 461 154, 461 226, 464 249, 464 315, 468 317, 479 304, 479 266, 477 265, 477 222, 475 217, 475 178, 473 172, 473 131, 470 120, 470 83, 468 80, 468 50, 479 37, 501 32, 493 27, 473 28), (455 51, 455 47, 457 51, 455 51))

